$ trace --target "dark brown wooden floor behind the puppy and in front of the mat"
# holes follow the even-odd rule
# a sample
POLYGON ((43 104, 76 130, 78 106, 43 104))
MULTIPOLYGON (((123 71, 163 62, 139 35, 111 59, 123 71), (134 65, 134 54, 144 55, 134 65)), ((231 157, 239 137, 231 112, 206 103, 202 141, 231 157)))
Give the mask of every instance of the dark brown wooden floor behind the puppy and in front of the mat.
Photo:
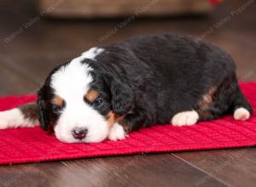
MULTIPOLYGON (((119 23, 123 20, 44 20, 32 10, 30 2, 0 3, 1 96, 35 93, 55 65, 87 48, 162 31, 189 33, 218 44, 234 57, 241 81, 256 80, 256 3, 250 3, 253 1, 224 1, 207 18, 136 18, 122 28, 119 23), (237 8, 243 3, 247 6, 238 13, 237 8), (237 14, 232 16, 234 11, 237 14)), ((256 149, 114 156, 0 167, 0 186, 172 185, 255 186, 256 149)))

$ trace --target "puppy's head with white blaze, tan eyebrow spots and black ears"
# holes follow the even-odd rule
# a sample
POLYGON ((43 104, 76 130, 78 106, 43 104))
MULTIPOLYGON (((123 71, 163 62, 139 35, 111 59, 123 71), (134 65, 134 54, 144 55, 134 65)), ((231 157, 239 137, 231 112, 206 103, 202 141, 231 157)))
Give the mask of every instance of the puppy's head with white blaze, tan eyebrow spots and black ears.
POLYGON ((55 68, 38 91, 41 127, 67 143, 101 142, 132 105, 129 87, 80 59, 55 68))

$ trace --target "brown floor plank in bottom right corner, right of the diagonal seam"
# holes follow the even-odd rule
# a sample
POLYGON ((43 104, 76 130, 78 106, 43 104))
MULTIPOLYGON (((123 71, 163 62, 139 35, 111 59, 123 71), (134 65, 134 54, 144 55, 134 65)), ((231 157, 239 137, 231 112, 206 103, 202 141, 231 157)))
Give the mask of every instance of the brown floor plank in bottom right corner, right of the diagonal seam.
MULTIPOLYGON (((184 152, 175 156, 230 186, 251 187, 256 184, 255 148, 184 152)), ((201 178, 197 184, 205 184, 207 179, 201 178)))

